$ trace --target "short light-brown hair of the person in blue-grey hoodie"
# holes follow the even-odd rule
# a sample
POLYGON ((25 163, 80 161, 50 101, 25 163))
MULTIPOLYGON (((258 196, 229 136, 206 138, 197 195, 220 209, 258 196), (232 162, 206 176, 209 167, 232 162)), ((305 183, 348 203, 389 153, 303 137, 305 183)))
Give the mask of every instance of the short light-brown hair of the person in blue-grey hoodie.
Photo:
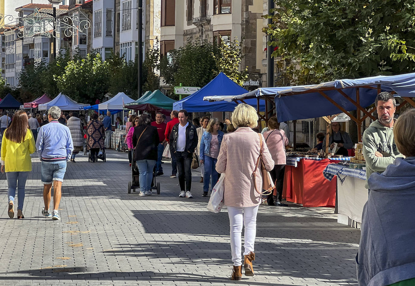
POLYGON ((396 147, 405 157, 415 156, 415 108, 405 111, 393 124, 396 147))

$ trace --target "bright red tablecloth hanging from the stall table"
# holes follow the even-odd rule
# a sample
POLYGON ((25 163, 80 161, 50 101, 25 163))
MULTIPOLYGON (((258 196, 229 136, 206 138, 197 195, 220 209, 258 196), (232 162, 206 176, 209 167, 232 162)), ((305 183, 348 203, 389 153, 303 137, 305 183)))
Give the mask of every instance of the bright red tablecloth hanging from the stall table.
POLYGON ((297 167, 286 166, 283 197, 304 207, 331 206, 336 204, 336 180, 329 182, 323 170, 332 163, 301 159, 297 167))

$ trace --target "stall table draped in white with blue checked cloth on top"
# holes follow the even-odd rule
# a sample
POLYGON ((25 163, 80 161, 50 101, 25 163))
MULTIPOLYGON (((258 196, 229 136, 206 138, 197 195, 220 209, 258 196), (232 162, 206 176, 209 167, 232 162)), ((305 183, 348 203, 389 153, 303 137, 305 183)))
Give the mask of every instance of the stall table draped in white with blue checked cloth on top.
POLYGON ((368 198, 365 188, 366 171, 329 164, 323 175, 328 181, 337 176, 337 222, 360 228, 363 207, 368 198))

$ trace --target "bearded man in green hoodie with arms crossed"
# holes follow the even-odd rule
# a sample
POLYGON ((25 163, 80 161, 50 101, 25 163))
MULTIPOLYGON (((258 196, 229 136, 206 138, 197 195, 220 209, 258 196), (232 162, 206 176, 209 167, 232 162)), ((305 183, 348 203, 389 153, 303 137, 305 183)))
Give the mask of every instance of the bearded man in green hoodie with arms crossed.
MULTIPOLYGON (((400 155, 393 138, 393 119, 396 110, 396 100, 389 92, 381 92, 376 96, 375 106, 378 120, 372 122, 363 133, 363 156, 366 161, 367 179, 374 172, 386 170, 400 155)), ((369 190, 370 191, 370 190, 369 190)))

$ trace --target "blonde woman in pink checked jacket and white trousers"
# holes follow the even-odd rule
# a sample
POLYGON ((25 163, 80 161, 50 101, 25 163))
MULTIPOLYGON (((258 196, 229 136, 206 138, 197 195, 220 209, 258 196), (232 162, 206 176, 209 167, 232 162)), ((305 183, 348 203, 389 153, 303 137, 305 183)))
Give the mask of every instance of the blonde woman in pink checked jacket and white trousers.
MULTIPOLYGON (((241 233, 244 234, 244 269, 246 276, 254 276, 252 260, 255 259, 254 242, 256 235, 256 214, 261 204, 261 194, 254 188, 252 173, 259 156, 260 140, 252 130, 258 125, 254 107, 239 104, 232 114, 236 131, 223 136, 216 170, 225 173, 224 203, 228 208, 233 271, 231 280, 242 279, 241 233)), ((274 161, 262 136, 262 159, 267 170, 272 170, 274 161)), ((261 172, 256 172, 257 189, 262 189, 261 172)))

